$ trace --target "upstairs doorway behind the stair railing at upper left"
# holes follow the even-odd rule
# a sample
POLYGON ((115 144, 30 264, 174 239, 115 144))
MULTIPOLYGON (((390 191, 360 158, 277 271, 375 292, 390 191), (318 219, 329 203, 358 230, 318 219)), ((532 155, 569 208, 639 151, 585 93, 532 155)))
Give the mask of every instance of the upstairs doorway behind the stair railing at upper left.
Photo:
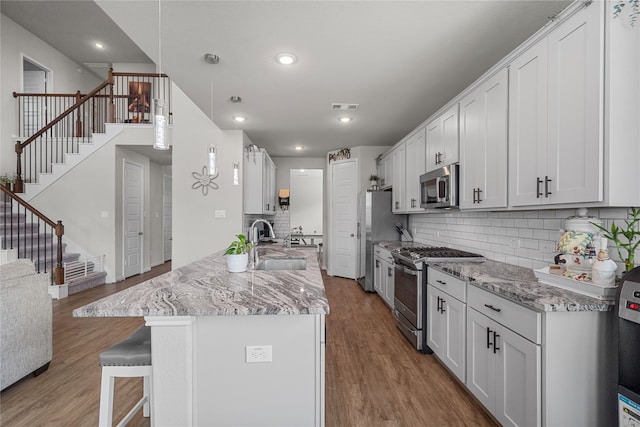
MULTIPOLYGON (((22 92, 47 94, 50 92, 51 70, 35 61, 22 57, 22 92)), ((42 129, 49 121, 48 100, 46 96, 22 98, 23 122, 22 136, 29 137, 42 129)))

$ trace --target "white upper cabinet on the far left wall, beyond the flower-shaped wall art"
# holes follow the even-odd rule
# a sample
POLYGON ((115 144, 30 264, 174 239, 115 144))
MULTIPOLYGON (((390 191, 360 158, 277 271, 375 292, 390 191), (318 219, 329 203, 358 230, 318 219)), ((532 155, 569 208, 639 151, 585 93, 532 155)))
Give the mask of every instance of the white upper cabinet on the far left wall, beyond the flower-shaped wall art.
POLYGON ((244 213, 274 215, 276 211, 276 167, 260 149, 245 152, 244 213))

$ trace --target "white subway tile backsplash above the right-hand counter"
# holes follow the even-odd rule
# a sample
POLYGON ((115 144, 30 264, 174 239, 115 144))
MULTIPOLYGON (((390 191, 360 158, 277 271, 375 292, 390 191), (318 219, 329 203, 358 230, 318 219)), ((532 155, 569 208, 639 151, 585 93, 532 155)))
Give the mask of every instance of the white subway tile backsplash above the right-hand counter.
MULTIPOLYGON (((624 225, 626 208, 589 209, 588 214, 624 225)), ((526 268, 553 264, 556 242, 563 220, 577 215, 576 209, 510 212, 448 212, 409 215, 409 230, 419 243, 448 246, 479 253, 489 259, 526 268)), ((609 255, 618 262, 618 274, 624 271, 615 248, 609 255)), ((640 260, 640 250, 636 251, 640 260)))

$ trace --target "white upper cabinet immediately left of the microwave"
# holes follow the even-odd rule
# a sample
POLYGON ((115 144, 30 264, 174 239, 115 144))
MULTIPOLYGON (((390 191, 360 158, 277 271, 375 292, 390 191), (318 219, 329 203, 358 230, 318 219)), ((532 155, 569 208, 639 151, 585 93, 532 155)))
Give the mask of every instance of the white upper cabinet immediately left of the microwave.
POLYGON ((405 142, 406 212, 424 212, 420 207, 420 175, 426 172, 426 133, 420 128, 405 142))

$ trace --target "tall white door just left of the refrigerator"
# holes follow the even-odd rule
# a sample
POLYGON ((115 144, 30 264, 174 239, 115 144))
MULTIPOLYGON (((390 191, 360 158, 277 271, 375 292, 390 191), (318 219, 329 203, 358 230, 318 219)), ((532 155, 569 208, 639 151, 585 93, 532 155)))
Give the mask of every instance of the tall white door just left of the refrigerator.
POLYGON ((356 278, 358 164, 346 160, 331 165, 331 266, 334 276, 356 278))

